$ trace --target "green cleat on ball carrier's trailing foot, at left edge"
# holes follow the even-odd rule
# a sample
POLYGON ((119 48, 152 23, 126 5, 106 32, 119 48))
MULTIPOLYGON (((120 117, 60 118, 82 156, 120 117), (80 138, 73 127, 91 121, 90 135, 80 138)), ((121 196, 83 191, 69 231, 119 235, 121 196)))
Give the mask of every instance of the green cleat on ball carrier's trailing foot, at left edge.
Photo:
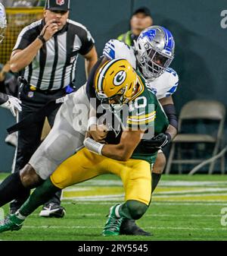
POLYGON ((0 221, 0 233, 5 231, 14 231, 21 229, 23 220, 20 220, 15 214, 11 214, 0 221))

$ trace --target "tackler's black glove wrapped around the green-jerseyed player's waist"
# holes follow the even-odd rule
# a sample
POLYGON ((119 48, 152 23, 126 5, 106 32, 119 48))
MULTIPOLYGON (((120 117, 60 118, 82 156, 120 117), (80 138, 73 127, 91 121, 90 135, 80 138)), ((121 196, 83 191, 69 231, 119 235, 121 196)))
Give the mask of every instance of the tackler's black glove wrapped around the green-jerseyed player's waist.
POLYGON ((171 141, 171 136, 166 132, 164 134, 160 133, 157 136, 152 137, 150 140, 142 140, 142 145, 148 153, 154 153, 165 147, 169 141, 171 141))

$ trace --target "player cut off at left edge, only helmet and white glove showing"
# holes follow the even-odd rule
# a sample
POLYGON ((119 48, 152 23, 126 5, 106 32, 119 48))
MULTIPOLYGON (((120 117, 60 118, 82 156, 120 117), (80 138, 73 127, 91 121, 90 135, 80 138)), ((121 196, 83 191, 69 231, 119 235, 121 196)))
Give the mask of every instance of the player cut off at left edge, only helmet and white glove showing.
MULTIPOLYGON (((7 27, 7 21, 5 16, 5 8, 0 3, 0 43, 4 40, 4 33, 7 27)), ((10 109, 11 113, 16 116, 16 112, 21 111, 20 100, 14 96, 7 95, 0 92, 0 106, 5 109, 10 109)))

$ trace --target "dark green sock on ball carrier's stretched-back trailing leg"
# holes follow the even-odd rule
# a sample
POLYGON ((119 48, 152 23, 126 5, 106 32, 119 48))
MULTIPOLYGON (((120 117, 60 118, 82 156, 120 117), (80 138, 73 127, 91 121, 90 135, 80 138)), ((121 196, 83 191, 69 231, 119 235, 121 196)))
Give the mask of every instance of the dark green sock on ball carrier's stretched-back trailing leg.
POLYGON ((51 182, 51 179, 48 178, 42 185, 33 191, 33 194, 31 194, 27 201, 20 207, 19 213, 22 216, 29 216, 37 207, 45 204, 46 201, 60 190, 61 188, 55 187, 51 182))

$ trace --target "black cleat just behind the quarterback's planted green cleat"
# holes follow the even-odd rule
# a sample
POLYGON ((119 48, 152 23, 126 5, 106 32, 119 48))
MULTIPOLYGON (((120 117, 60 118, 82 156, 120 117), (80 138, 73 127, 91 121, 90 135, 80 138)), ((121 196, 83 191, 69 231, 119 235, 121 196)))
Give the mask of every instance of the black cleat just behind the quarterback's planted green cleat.
POLYGON ((120 226, 120 235, 153 235, 136 225, 135 220, 124 218, 120 226))

